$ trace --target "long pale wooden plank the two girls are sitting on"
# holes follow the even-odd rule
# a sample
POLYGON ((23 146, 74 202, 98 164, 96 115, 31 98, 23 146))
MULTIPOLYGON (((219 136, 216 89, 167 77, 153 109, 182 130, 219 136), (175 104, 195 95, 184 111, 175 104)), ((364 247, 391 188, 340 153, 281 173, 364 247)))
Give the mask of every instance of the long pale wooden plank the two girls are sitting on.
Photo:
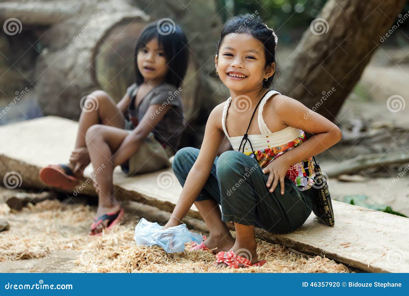
MULTIPOLYGON (((43 188, 38 169, 65 163, 74 146, 77 123, 60 117, 42 117, 0 127, 0 177, 15 171, 22 186, 43 188)), ((85 170, 90 176, 91 167, 85 170)), ((82 193, 95 194, 84 180, 82 193)), ((172 211, 182 189, 171 170, 126 177, 119 167, 114 184, 120 199, 144 202, 172 211)), ((311 214, 293 233, 274 235, 257 229, 269 242, 310 255, 321 255, 370 272, 409 272, 409 219, 333 201, 335 223, 328 227, 311 214)), ((193 206, 188 216, 199 218, 193 206)))

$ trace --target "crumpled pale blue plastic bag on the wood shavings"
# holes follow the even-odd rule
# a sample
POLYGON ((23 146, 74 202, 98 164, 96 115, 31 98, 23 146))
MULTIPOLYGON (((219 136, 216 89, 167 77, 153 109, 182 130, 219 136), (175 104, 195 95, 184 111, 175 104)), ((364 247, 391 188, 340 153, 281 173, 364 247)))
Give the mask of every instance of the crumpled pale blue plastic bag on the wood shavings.
POLYGON ((134 240, 138 245, 152 246, 157 244, 168 253, 184 251, 185 242, 203 242, 202 235, 187 229, 186 224, 169 227, 162 230, 162 226, 156 222, 149 222, 142 218, 135 226, 134 240))

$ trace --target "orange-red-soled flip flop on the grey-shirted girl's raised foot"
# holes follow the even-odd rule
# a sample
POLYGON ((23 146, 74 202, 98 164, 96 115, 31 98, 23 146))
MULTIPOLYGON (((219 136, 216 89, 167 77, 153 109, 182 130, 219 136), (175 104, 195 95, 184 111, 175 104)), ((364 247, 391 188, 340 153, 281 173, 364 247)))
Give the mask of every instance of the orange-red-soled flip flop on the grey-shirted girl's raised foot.
POLYGON ((64 190, 73 190, 79 183, 79 180, 72 176, 72 170, 65 165, 47 165, 40 169, 38 174, 44 184, 64 190))

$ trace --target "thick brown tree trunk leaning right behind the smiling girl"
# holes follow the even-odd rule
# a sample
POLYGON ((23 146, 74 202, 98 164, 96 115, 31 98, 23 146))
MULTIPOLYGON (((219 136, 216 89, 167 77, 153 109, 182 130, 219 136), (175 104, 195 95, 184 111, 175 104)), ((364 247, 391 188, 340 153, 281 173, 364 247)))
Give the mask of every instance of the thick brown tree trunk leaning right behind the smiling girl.
POLYGON ((333 121, 406 2, 328 1, 282 71, 280 91, 333 121))

